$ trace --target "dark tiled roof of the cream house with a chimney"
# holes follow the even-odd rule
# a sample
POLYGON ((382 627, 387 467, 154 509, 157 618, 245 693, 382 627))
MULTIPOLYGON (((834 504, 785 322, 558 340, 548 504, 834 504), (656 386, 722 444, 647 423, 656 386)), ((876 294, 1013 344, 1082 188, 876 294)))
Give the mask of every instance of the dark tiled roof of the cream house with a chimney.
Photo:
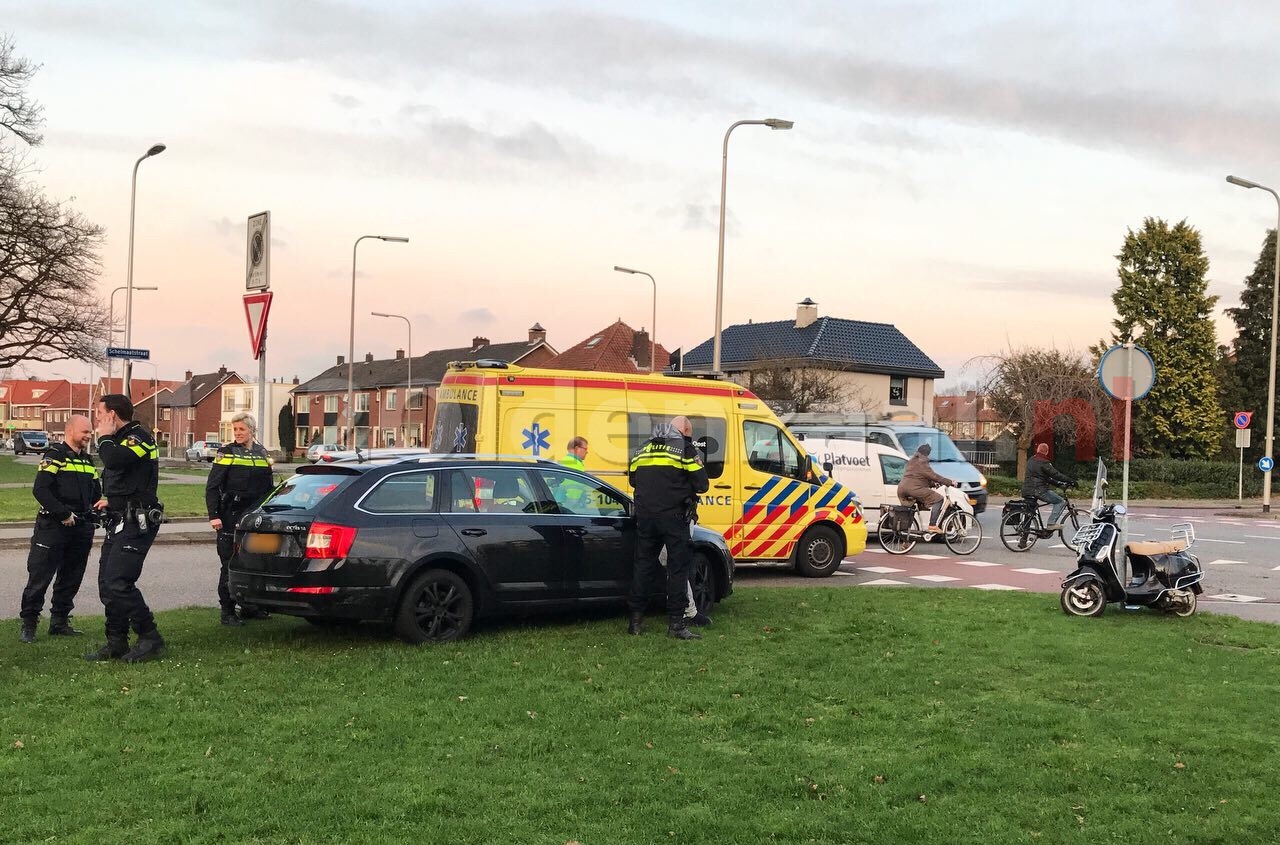
MULTIPOLYGON (((721 369, 745 370, 759 361, 812 361, 859 373, 941 379, 945 373, 920 347, 888 323, 818 318, 803 329, 795 320, 731 325, 721 334, 721 369)), ((686 370, 712 364, 712 341, 685 353, 686 370)))

